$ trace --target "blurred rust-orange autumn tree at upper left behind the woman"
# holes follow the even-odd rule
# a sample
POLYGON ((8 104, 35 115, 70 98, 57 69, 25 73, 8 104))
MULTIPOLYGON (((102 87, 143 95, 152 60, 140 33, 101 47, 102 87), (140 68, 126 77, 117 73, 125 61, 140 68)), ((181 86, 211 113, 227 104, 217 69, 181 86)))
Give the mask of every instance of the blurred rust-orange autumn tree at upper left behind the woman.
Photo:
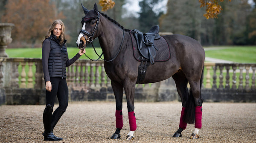
POLYGON ((50 0, 9 0, 2 22, 14 23, 13 41, 32 43, 41 41, 52 22, 64 18, 55 14, 55 5, 50 0))

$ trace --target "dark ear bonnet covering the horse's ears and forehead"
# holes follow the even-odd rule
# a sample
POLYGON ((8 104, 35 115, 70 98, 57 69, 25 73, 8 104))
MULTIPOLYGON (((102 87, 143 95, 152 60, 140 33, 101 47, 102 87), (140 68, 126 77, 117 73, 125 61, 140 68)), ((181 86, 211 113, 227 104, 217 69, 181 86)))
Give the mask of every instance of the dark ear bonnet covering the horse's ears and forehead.
POLYGON ((85 16, 83 17, 82 19, 82 25, 84 22, 87 22, 87 21, 90 21, 92 20, 93 18, 98 18, 99 19, 99 14, 98 14, 98 6, 96 5, 96 3, 94 4, 94 7, 92 10, 87 10, 87 8, 85 8, 83 5, 83 10, 84 10, 84 14, 85 16))

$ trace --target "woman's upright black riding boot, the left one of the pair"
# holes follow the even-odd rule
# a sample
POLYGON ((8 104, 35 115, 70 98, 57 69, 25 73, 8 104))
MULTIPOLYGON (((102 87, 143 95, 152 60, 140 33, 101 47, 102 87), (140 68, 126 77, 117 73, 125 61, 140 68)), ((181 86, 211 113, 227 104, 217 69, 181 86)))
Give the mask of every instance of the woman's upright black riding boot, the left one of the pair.
POLYGON ((52 106, 48 104, 43 113, 43 123, 44 123, 44 140, 62 140, 61 137, 56 137, 51 131, 51 121, 52 120, 52 106))

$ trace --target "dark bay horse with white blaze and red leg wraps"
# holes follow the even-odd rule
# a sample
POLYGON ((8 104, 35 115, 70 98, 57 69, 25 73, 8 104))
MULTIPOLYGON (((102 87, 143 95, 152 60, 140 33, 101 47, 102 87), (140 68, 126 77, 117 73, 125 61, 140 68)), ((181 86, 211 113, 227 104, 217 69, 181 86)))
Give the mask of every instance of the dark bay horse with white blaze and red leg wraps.
MULTIPOLYGON (((125 96, 128 108, 130 132, 127 140, 134 139, 134 131, 137 128, 134 113, 134 92, 138 78, 138 66, 141 62, 133 56, 133 45, 129 31, 123 28, 115 20, 98 11, 97 5, 93 10, 87 10, 82 6, 85 16, 82 18, 82 30, 77 39, 79 49, 99 38, 105 60, 105 72, 111 79, 111 86, 116 99, 116 132, 113 139, 120 138, 120 130, 123 126, 122 96, 125 96)), ((181 137, 181 132, 186 129, 187 123, 195 123, 195 131, 190 138, 199 137, 201 129, 202 104, 201 84, 204 70, 205 53, 202 46, 195 40, 183 35, 166 35, 163 38, 170 49, 170 59, 166 62, 156 62, 147 67, 145 79, 139 84, 163 81, 172 76, 175 80, 177 92, 182 102, 179 129, 172 137, 181 137), (190 85, 190 90, 187 84, 190 85)))

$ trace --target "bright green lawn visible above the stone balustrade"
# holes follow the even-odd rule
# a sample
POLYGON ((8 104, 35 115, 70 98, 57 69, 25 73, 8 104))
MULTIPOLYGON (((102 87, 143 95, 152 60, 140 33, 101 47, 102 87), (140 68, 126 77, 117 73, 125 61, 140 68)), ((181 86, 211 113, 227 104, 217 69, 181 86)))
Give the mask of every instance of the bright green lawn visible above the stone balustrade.
MULTIPOLYGON (((67 48, 68 55, 72 58, 79 51, 78 48, 67 48)), ((99 54, 102 53, 101 48, 97 48, 99 54)), ((6 53, 10 58, 41 58, 41 48, 15 48, 6 49, 6 53)), ((256 46, 215 46, 205 47, 207 57, 215 59, 224 59, 239 63, 256 63, 256 46), (217 50, 215 48, 218 48, 217 50)), ((87 48, 86 54, 90 58, 97 59, 98 56, 94 53, 93 48, 87 48)), ((86 56, 81 56, 80 59, 88 59, 86 56)))

